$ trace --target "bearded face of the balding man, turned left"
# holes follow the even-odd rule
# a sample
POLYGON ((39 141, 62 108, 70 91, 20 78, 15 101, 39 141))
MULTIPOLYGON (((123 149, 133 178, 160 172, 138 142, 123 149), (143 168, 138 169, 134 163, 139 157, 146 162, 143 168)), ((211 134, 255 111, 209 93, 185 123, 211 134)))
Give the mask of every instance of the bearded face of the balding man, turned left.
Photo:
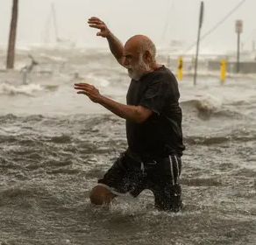
POLYGON ((128 75, 136 81, 139 81, 143 74, 150 71, 144 54, 132 50, 129 46, 124 46, 124 66, 128 69, 128 75))

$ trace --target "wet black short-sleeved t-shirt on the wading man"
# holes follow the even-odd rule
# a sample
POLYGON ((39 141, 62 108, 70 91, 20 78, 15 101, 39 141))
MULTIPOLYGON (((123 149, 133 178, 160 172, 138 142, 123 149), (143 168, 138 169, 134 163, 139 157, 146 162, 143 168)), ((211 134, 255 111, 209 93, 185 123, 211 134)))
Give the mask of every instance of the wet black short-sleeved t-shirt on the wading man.
POLYGON ((143 123, 126 120, 129 149, 141 155, 182 155, 182 111, 179 88, 174 74, 165 66, 146 73, 139 81, 131 81, 126 101, 128 105, 153 110, 143 123))

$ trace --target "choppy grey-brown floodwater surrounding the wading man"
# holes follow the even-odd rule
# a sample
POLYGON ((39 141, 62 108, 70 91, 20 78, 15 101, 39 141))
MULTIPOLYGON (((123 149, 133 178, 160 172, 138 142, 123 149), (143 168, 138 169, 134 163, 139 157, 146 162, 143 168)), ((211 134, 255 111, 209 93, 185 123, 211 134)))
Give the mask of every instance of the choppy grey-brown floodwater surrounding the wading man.
POLYGON ((105 52, 32 54, 30 84, 0 73, 2 244, 256 244, 256 80, 180 81, 181 213, 155 211, 150 192, 96 208, 89 190, 124 151, 124 120, 76 95, 74 73, 118 102, 129 79, 105 52))

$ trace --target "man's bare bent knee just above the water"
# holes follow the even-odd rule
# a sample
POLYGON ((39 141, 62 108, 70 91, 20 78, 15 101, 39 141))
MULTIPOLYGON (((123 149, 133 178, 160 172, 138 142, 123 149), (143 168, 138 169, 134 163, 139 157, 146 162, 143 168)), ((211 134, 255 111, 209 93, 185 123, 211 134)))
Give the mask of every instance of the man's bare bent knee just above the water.
POLYGON ((111 200, 116 197, 104 186, 95 186, 89 193, 89 200, 94 205, 110 204, 111 200))

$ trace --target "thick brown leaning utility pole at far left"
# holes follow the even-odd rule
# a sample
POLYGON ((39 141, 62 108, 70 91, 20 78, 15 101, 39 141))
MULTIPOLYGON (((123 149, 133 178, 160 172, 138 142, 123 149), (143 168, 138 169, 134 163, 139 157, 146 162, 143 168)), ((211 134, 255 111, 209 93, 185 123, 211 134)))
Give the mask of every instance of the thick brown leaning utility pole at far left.
POLYGON ((13 0, 6 69, 14 68, 17 23, 18 23, 18 0, 13 0))

